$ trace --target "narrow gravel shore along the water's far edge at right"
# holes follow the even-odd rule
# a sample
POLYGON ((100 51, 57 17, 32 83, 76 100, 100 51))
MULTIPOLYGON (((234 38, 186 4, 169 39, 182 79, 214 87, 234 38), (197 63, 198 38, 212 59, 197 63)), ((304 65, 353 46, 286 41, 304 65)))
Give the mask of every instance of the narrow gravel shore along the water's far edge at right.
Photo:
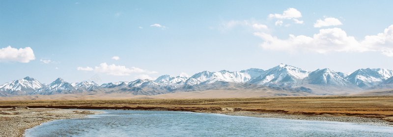
POLYGON ((366 118, 366 117, 358 117, 358 116, 337 116, 337 115, 330 115, 330 114, 302 115, 302 114, 257 113, 257 112, 249 112, 249 111, 221 111, 221 112, 208 112, 208 113, 266 117, 266 118, 350 122, 350 123, 360 123, 360 124, 369 124, 369 125, 377 125, 377 126, 393 126, 392 125, 393 123, 378 118, 366 118))

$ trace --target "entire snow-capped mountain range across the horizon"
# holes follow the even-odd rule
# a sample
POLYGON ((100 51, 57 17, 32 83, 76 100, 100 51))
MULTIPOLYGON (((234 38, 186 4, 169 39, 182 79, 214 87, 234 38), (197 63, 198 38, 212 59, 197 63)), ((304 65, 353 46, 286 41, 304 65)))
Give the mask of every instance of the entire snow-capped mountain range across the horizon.
POLYGON ((346 75, 329 68, 307 71, 280 64, 267 70, 250 68, 234 72, 202 71, 191 77, 162 75, 156 80, 137 79, 102 85, 93 81, 68 83, 62 78, 45 85, 34 78, 25 77, 1 85, 0 96, 97 92, 157 95, 209 90, 272 90, 277 95, 334 95, 390 88, 393 88, 393 71, 389 69, 362 68, 346 75))

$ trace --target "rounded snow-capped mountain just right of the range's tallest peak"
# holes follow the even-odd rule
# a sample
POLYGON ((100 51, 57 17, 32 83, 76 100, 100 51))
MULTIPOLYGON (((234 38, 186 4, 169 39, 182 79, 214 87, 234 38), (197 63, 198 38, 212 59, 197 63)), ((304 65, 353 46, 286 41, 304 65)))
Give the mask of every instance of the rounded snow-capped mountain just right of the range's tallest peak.
POLYGON ((314 85, 348 86, 348 83, 339 73, 329 69, 317 69, 309 73, 303 80, 304 83, 314 85))

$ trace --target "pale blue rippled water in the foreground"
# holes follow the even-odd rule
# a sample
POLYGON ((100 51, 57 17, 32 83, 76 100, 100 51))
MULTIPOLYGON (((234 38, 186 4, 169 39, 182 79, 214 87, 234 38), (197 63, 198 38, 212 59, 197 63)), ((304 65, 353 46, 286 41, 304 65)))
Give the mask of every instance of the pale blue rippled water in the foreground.
POLYGON ((393 127, 170 111, 104 110, 55 120, 26 137, 393 137, 393 127))

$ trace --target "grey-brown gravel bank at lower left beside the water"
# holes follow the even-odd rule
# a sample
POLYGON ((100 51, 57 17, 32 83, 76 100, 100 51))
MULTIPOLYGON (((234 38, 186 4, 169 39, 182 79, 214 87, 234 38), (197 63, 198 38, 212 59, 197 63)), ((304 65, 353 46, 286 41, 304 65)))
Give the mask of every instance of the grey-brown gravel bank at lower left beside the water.
POLYGON ((82 118, 99 111, 63 110, 47 108, 1 108, 0 137, 23 137, 26 129, 56 119, 82 118))

